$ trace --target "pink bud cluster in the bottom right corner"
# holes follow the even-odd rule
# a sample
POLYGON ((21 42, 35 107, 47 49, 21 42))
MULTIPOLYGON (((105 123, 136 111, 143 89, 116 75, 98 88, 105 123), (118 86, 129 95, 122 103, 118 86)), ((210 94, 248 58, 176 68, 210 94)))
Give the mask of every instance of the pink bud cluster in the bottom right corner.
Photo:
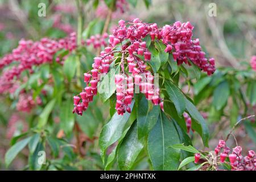
MULTIPOLYGON (((232 167, 232 170, 236 171, 256 170, 256 155, 253 150, 248 151, 246 156, 242 156, 241 146, 234 147, 231 152, 230 148, 226 146, 226 142, 224 140, 219 140, 214 152, 216 154, 214 160, 216 160, 217 164, 227 163, 232 167), (229 158, 229 162, 226 160, 227 158, 229 158)), ((195 154, 195 163, 199 162, 200 156, 199 153, 195 154)), ((202 168, 204 168, 204 166, 202 168)), ((216 169, 218 170, 218 168, 216 169)))

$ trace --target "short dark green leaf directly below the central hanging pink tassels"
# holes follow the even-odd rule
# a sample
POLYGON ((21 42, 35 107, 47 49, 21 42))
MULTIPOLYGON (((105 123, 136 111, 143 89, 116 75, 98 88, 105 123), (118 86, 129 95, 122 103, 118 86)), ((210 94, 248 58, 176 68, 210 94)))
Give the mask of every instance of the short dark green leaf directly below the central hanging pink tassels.
POLYGON ((152 102, 146 100, 146 97, 142 97, 139 101, 137 110, 137 122, 138 122, 138 138, 141 139, 150 132, 158 121, 158 115, 160 113, 160 107, 153 106, 152 102))

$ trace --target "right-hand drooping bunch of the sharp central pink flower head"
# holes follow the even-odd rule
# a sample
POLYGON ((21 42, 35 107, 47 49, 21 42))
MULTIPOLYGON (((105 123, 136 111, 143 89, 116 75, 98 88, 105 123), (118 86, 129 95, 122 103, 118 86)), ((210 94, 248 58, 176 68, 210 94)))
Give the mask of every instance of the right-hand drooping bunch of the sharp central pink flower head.
POLYGON ((215 71, 215 61, 213 58, 209 60, 205 58, 205 52, 201 51, 199 39, 192 39, 193 26, 190 22, 175 22, 172 26, 163 27, 160 35, 163 43, 166 44, 166 52, 172 52, 174 60, 177 64, 182 63, 191 65, 189 60, 196 64, 202 71, 212 75, 215 71))

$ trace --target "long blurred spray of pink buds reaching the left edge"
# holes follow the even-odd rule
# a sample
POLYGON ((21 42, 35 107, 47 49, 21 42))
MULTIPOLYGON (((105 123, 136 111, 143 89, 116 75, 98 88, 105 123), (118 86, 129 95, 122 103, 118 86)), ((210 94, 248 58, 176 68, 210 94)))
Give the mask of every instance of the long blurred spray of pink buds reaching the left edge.
MULTIPOLYGON (((52 40, 43 38, 38 42, 32 40, 20 40, 17 48, 13 49, 12 53, 5 55, 0 60, 0 69, 7 67, 11 63, 16 64, 2 72, 0 77, 0 91, 1 93, 8 91, 13 84, 14 78, 19 78, 20 74, 28 70, 33 72, 32 67, 44 63, 52 63, 53 56, 61 49, 73 51, 76 48, 76 33, 70 34, 67 38, 52 40), (3 89, 5 88, 5 89, 3 89)), ((60 57, 56 58, 60 62, 60 57)))

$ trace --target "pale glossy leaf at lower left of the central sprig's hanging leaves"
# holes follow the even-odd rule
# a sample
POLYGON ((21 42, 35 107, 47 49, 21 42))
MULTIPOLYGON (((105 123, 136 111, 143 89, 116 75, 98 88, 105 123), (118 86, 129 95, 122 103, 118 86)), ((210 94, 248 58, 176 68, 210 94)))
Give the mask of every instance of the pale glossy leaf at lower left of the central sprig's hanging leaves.
MULTIPOLYGON (((131 109, 133 109, 134 101, 131 104, 131 109)), ((130 113, 126 112, 123 115, 118 115, 117 112, 113 115, 110 121, 102 128, 100 134, 100 148, 101 148, 101 158, 105 161, 106 149, 116 142, 123 133, 125 129, 126 122, 130 117, 130 113)))

